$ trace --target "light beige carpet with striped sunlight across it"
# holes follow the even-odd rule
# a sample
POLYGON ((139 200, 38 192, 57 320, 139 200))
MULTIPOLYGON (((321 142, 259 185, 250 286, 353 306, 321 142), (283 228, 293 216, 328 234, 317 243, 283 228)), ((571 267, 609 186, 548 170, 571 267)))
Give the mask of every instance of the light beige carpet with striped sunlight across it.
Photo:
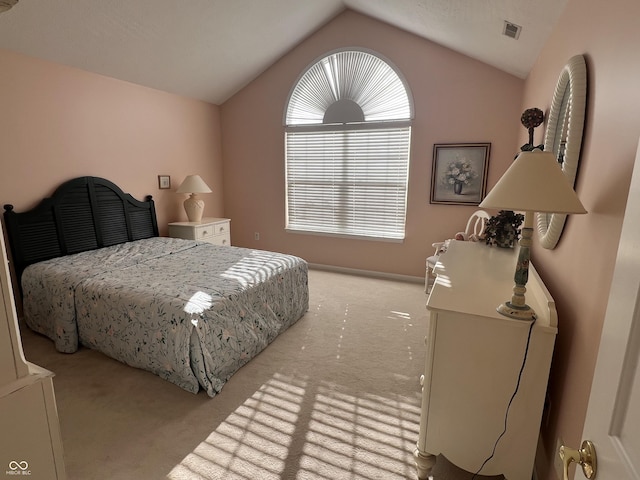
POLYGON ((69 480, 417 478, 423 285, 312 270, 309 312, 209 398, 23 328, 69 480))

